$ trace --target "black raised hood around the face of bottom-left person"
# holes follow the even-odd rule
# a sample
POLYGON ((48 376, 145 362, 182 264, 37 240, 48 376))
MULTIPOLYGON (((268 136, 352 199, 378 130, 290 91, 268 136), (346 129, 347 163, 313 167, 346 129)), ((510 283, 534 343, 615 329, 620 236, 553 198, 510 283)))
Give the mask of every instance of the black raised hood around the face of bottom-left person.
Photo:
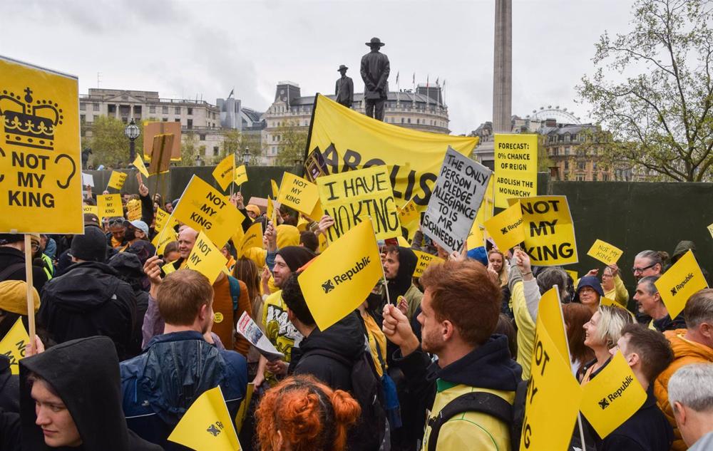
POLYGON ((82 437, 84 450, 128 451, 121 408, 119 359, 114 343, 96 336, 66 341, 20 361, 20 417, 23 450, 51 450, 35 425, 35 404, 27 383, 39 375, 62 398, 82 437))

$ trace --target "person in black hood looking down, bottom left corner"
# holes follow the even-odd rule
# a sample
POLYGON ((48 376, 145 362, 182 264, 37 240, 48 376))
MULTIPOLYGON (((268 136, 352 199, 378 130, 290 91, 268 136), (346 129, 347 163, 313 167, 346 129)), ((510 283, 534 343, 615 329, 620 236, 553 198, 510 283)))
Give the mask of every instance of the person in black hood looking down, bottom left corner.
POLYGON ((119 361, 106 337, 67 341, 26 357, 20 380, 23 450, 162 450, 126 427, 119 361))

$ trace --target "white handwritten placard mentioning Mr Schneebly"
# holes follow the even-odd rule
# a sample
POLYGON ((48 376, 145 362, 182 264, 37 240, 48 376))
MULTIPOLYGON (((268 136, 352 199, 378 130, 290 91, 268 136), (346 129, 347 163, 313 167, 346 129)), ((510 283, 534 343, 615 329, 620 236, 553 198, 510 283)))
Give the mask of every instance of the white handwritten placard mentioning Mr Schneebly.
POLYGON ((424 234, 461 252, 488 186, 491 170, 448 147, 421 224, 424 234))

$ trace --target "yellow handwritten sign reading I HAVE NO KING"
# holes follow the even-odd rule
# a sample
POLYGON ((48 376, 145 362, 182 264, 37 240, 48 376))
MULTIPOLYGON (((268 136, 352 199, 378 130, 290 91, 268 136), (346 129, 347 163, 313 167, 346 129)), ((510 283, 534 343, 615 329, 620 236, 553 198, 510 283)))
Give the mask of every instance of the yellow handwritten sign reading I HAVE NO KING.
POLYGON ((375 227, 376 239, 401 234, 386 166, 318 177, 317 187, 322 212, 334 218, 334 225, 327 229, 330 243, 369 218, 375 227))

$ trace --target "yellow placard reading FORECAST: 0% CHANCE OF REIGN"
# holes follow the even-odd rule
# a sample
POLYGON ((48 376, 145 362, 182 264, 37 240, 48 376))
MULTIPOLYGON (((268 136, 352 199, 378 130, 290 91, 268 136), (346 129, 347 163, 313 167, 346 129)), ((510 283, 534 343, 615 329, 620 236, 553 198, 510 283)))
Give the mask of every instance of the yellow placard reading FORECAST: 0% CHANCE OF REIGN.
POLYGON ((537 195, 537 135, 495 135, 495 206, 537 195))

